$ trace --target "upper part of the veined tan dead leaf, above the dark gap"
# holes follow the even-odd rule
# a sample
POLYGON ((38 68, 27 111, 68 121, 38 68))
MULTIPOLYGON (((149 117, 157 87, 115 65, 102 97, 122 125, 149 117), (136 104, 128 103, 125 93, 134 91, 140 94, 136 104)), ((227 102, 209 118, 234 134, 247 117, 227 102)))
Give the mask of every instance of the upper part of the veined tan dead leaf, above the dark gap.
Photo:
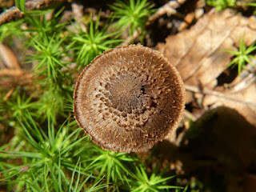
POLYGON ((157 48, 176 66, 186 84, 213 89, 226 69, 231 54, 244 35, 246 46, 256 40, 256 18, 245 18, 232 10, 206 14, 190 28, 166 38, 157 48))

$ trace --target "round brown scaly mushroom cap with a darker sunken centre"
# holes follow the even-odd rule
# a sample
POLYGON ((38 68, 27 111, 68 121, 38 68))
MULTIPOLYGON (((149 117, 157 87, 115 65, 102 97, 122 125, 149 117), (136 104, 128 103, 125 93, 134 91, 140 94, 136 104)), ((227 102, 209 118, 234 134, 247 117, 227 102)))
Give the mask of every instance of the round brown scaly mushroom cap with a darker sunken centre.
POLYGON ((74 90, 74 115, 102 148, 148 150, 178 126, 182 78, 167 58, 144 46, 119 46, 94 58, 74 90))

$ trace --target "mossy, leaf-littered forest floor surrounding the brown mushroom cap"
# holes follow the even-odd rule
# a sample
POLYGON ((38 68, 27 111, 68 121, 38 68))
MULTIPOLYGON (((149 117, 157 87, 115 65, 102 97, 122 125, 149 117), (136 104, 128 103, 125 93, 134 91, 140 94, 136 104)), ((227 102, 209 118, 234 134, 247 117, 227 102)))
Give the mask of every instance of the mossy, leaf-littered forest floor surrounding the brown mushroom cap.
POLYGON ((139 190, 138 173, 152 176, 155 167, 166 177, 176 175, 174 182, 162 180, 162 189, 166 191, 170 188, 165 186, 170 185, 185 187, 177 191, 254 191, 255 1, 130 0, 122 4, 109 0, 30 0, 25 5, 22 0, 15 2, 20 3, 18 8, 8 13, 6 8, 14 6, 14 1, 0 0, 0 11, 7 13, 0 16, 1 192, 24 189, 79 191, 95 183, 100 186, 98 190, 103 191, 109 183, 110 191, 143 191, 139 190), (138 9, 134 20, 128 17, 135 13, 132 8, 138 9), (122 20, 126 17, 127 20, 122 20), (83 47, 86 43, 92 48, 83 47), (130 44, 142 44, 160 51, 177 68, 186 89, 184 118, 175 133, 153 149, 121 159, 126 166, 102 168, 105 164, 95 159, 105 155, 104 150, 95 150, 89 138, 85 138, 89 143, 85 147, 94 150, 86 152, 88 154, 80 155, 78 148, 81 146, 75 146, 76 139, 84 138, 82 133, 71 132, 76 127, 71 119, 74 116, 74 85, 83 67, 98 54, 130 44), (62 127, 66 118, 68 128, 64 126, 66 130, 59 133, 58 128, 53 127, 62 127), (42 138, 50 143, 49 146, 40 148, 44 144, 38 144, 41 138, 36 136, 38 132, 28 131, 30 126, 42 127, 38 131, 44 133, 42 138), (76 137, 66 138, 66 133, 74 133, 76 137), (61 135, 63 138, 58 140, 61 135), (76 150, 65 144, 69 139, 76 150), (52 164, 47 162, 49 170, 46 164, 35 163, 39 160, 33 155, 41 159, 40 153, 55 153, 57 146, 68 148, 68 151, 60 150, 64 151, 63 160, 57 155, 58 159, 54 158, 52 164), (70 160, 72 157, 74 161, 70 160), (77 162, 82 157, 86 157, 80 166, 83 176, 89 177, 87 186, 86 182, 73 184, 73 178, 78 178, 74 174, 80 174, 77 162), (126 160, 134 164, 126 164, 126 160), (56 161, 57 166, 53 166, 56 161), (133 168, 140 162, 146 172, 133 168), (25 170, 20 170, 24 167, 25 170), (40 167, 44 174, 38 174, 32 167, 40 167), (128 174, 124 176, 127 182, 122 181, 118 169, 127 169, 128 174), (30 170, 34 174, 24 174, 30 170), (61 174, 50 178, 54 171, 61 174), (34 183, 33 175, 42 178, 34 183), (47 186, 47 183, 52 184, 48 176, 52 181, 56 179, 56 188, 47 186), (15 178, 15 182, 11 178, 15 178))

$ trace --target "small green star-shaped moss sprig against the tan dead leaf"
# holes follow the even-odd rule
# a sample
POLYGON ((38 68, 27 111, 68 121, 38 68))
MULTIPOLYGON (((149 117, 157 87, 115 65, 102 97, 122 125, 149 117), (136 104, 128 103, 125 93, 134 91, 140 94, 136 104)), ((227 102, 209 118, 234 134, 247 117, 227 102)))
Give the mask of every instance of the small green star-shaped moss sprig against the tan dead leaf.
MULTIPOLYGON (((234 54, 234 59, 227 67, 230 66, 238 66, 238 74, 241 73, 242 69, 245 68, 246 64, 249 63, 251 66, 254 66, 254 64, 250 61, 250 59, 255 58, 254 55, 251 55, 251 53, 256 50, 256 45, 253 43, 249 47, 246 47, 246 44, 244 42, 243 38, 240 38, 239 40, 239 50, 225 50, 226 52, 230 54, 234 54)), ((254 66, 255 67, 255 66, 254 66)))

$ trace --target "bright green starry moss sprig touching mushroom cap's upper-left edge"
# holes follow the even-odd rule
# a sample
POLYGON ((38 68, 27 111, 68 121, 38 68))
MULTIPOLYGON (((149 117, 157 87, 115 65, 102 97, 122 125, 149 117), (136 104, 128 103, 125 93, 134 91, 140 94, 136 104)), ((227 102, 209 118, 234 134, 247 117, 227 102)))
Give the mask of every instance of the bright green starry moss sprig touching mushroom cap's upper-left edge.
POLYGON ((77 33, 72 33, 71 49, 75 51, 79 68, 89 64, 98 54, 102 54, 104 50, 118 46, 121 39, 118 39, 119 32, 107 34, 106 26, 99 29, 99 16, 96 22, 93 22, 90 17, 88 31, 82 30, 82 27, 77 27, 77 33))

